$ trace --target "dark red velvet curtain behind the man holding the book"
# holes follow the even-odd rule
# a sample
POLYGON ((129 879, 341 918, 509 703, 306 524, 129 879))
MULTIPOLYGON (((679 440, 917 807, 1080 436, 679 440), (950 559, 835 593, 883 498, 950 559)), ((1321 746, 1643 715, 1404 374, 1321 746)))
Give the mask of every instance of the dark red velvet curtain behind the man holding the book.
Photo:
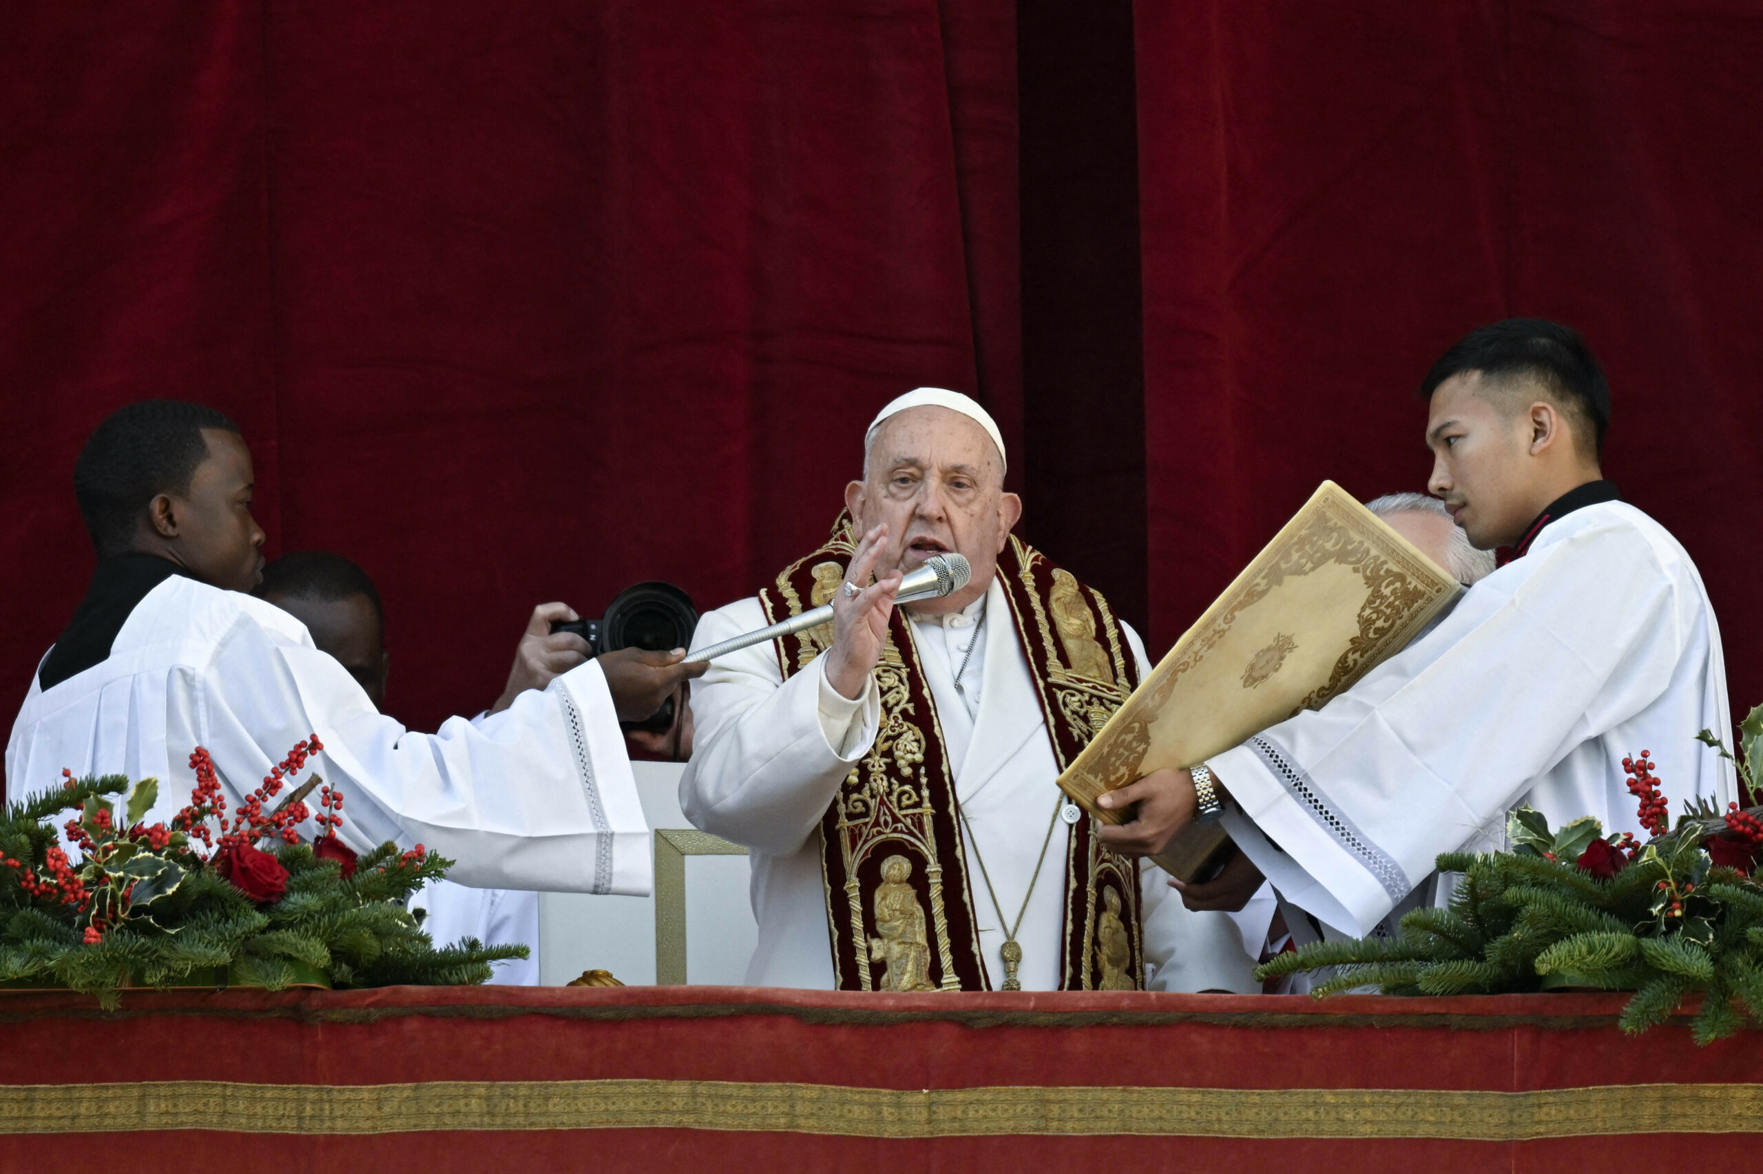
POLYGON ((1534 314, 1603 356, 1606 472, 1763 702, 1763 9, 1141 0, 1137 60, 1155 638, 1322 478, 1423 488, 1421 375, 1534 314))

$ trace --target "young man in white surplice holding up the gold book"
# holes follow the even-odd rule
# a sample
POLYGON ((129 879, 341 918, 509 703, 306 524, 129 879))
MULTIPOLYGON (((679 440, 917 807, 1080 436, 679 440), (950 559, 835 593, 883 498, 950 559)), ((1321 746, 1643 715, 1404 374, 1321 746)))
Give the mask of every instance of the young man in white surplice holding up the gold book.
MULTIPOLYGON (((1197 908, 1236 908, 1266 874, 1324 931, 1372 933, 1423 899, 1439 853, 1504 846, 1520 804, 1555 827, 1590 814, 1641 834, 1622 770, 1641 751, 1673 809, 1737 797, 1731 765, 1696 740, 1731 744, 1719 626, 1684 548, 1603 479, 1610 390, 1581 338, 1497 323, 1421 391, 1432 492, 1511 561, 1320 710, 1204 763, 1245 855, 1186 887, 1197 908)), ((1116 800, 1139 800, 1139 820, 1104 837, 1155 851, 1195 818, 1194 772, 1116 800)))

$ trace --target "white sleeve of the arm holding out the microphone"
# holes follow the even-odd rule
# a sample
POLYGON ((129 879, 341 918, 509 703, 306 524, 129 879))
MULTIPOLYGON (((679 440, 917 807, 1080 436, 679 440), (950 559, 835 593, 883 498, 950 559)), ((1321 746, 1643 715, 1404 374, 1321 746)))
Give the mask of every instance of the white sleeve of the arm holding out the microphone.
POLYGON ((434 735, 407 732, 333 658, 249 613, 203 670, 173 672, 173 744, 208 747, 236 793, 317 733, 324 753, 309 769, 342 791, 340 836, 358 851, 421 843, 457 862, 451 880, 485 888, 649 892, 649 832, 594 661, 434 735))

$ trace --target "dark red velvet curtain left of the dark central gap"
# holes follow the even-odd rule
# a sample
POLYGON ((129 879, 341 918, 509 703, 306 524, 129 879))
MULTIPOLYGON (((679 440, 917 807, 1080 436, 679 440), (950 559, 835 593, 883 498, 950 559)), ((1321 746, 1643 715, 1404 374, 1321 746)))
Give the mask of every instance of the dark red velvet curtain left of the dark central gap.
POLYGON ((1015 236, 1008 0, 5 5, 5 723, 130 398, 240 421, 270 552, 367 568, 434 728, 534 603, 813 548, 901 391, 1019 441, 1015 236))

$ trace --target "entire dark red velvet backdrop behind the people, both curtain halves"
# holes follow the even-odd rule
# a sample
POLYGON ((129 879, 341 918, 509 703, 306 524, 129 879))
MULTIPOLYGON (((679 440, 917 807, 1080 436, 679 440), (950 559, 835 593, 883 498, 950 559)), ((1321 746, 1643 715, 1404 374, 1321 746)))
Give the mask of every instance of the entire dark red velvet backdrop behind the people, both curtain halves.
POLYGON ((432 726, 532 603, 756 587, 920 383, 977 390, 1028 538, 1130 619, 1148 580, 1167 647, 1324 476, 1419 488, 1412 386, 1520 312, 1604 356, 1610 474, 1763 700, 1756 5, 1139 4, 1142 391, 1121 32, 1049 0, 0 5, 0 712, 92 566, 74 453, 143 395, 234 414, 272 554, 374 575, 391 710, 432 726))

